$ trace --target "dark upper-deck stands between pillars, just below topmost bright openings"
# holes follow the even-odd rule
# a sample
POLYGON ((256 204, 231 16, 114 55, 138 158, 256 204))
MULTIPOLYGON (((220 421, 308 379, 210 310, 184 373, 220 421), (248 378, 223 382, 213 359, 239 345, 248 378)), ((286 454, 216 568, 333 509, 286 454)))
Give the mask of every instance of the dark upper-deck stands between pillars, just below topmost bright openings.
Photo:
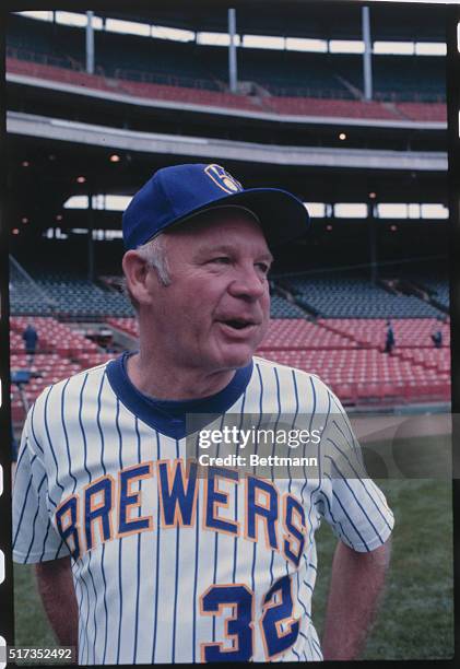
MULTIPOLYGON (((317 33, 318 26, 315 21, 311 24, 309 17, 304 25, 304 35, 317 33)), ((354 44, 356 37, 359 37, 356 32, 358 26, 357 21, 353 30, 350 27, 346 32, 347 35, 353 32, 354 44)), ((286 33, 287 30, 291 31, 291 27, 286 28, 286 33)), ((298 28, 293 34, 298 34, 298 28)), ((439 37, 439 31, 436 36, 439 37)), ((17 60, 45 62, 83 71, 85 54, 82 37, 82 27, 11 15, 7 32, 7 52, 17 60)), ((288 39, 295 39, 294 37, 284 40, 284 49, 262 50, 250 48, 250 43, 246 45, 245 38, 246 35, 243 39, 245 47, 238 49, 238 78, 246 82, 244 90, 249 95, 252 93, 250 96, 260 98, 262 103, 267 104, 266 98, 270 96, 353 101, 362 98, 363 64, 359 55, 291 50, 287 48, 288 39)), ((422 38, 423 35, 416 37, 422 38)), ((96 73, 106 79, 225 92, 228 89, 226 48, 204 46, 197 40, 198 37, 193 42, 181 43, 96 31, 96 73)), ((328 44, 325 39, 322 43, 328 44)), ((375 99, 393 103, 445 101, 444 58, 378 55, 377 44, 376 40, 373 57, 375 99)), ((319 44, 319 50, 321 48, 319 44)), ((209 99, 208 103, 210 102, 209 99)), ((285 109, 288 114, 288 103, 285 109)), ((385 107, 381 107, 385 118, 384 109, 385 107)), ((404 118, 404 113, 399 111, 393 117, 404 118)))

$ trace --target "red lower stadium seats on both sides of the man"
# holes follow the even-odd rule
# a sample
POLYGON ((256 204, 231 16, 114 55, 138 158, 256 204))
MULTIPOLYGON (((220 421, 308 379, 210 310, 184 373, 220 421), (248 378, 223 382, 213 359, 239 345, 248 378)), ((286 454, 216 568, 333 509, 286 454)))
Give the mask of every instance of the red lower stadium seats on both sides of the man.
MULTIPOLYGON (((21 336, 30 320, 11 318, 11 369, 32 372, 23 387, 28 403, 49 384, 116 355, 101 351, 78 327, 37 316, 33 322, 39 336, 38 352, 30 365, 21 336)), ((114 329, 138 336, 134 318, 106 320, 114 329)), ((316 374, 345 404, 448 401, 448 324, 441 325, 444 347, 435 349, 425 339, 437 320, 393 320, 397 345, 392 355, 381 352, 385 325, 384 319, 319 319, 315 324, 304 318, 274 318, 257 355, 316 374)), ((22 421, 24 407, 15 385, 11 392, 13 420, 22 421)))

